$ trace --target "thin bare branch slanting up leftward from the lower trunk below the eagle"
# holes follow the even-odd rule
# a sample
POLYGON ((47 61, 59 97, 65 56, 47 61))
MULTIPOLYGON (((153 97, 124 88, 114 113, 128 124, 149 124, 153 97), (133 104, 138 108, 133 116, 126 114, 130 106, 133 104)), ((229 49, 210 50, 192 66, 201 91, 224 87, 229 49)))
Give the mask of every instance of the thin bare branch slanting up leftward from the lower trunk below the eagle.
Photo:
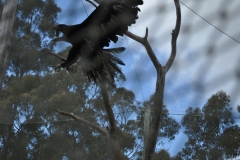
POLYGON ((104 135, 108 136, 108 131, 107 131, 107 130, 99 127, 98 125, 96 125, 96 124, 94 124, 94 123, 91 123, 91 122, 89 122, 89 121, 86 121, 85 119, 80 118, 80 117, 74 115, 73 113, 68 113, 68 112, 64 112, 64 111, 61 111, 61 110, 57 110, 57 109, 55 109, 55 111, 58 112, 58 113, 61 114, 61 115, 71 117, 71 118, 73 118, 73 119, 76 120, 76 121, 79 121, 79 122, 81 122, 81 123, 83 123, 83 124, 86 124, 86 125, 94 128, 94 129, 98 130, 99 132, 103 133, 104 135))

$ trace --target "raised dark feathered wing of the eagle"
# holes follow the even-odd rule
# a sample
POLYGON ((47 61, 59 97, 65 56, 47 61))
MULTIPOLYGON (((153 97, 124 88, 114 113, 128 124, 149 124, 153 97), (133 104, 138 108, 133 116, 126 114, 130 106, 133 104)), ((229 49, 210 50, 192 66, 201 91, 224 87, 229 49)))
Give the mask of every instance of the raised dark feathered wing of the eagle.
POLYGON ((137 6, 141 4, 142 0, 105 0, 82 23, 82 27, 87 33, 94 34, 89 39, 98 41, 96 47, 108 47, 110 41, 116 43, 117 36, 123 36, 128 26, 136 23, 140 11, 137 6))

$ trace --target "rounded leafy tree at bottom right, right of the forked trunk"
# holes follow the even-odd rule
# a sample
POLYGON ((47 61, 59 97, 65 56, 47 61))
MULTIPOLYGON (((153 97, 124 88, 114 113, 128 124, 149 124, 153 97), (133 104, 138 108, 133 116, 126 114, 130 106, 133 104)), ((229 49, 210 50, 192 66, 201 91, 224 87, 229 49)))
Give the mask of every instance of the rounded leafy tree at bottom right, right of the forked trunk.
POLYGON ((227 135, 227 128, 234 123, 229 103, 230 97, 225 92, 219 91, 208 99, 202 110, 192 107, 187 109, 182 125, 185 127, 188 141, 178 154, 178 158, 223 159, 225 156, 229 157, 230 153, 225 151, 224 154, 222 147, 223 144, 226 146, 227 139, 223 137, 227 135))

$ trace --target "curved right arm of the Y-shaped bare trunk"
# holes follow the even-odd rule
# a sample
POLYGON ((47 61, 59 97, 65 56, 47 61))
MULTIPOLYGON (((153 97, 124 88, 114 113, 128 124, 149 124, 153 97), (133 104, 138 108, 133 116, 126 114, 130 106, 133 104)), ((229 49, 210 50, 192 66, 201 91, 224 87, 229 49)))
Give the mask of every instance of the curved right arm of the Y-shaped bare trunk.
POLYGON ((179 4, 179 0, 174 0, 175 7, 176 7, 176 14, 177 14, 177 20, 176 20, 176 26, 174 30, 172 31, 172 52, 171 55, 165 65, 165 70, 166 72, 170 69, 170 67, 173 64, 173 61, 176 57, 176 52, 177 52, 177 37, 180 31, 180 26, 181 26, 181 8, 179 4))

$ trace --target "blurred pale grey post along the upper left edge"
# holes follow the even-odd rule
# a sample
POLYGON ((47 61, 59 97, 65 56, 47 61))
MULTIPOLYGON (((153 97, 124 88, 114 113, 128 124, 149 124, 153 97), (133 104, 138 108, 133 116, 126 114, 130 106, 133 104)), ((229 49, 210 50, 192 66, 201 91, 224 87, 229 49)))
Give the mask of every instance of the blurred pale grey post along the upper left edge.
POLYGON ((1 4, 1 21, 0 21, 0 88, 5 74, 5 67, 9 52, 11 31, 15 19, 18 0, 7 0, 1 4))

